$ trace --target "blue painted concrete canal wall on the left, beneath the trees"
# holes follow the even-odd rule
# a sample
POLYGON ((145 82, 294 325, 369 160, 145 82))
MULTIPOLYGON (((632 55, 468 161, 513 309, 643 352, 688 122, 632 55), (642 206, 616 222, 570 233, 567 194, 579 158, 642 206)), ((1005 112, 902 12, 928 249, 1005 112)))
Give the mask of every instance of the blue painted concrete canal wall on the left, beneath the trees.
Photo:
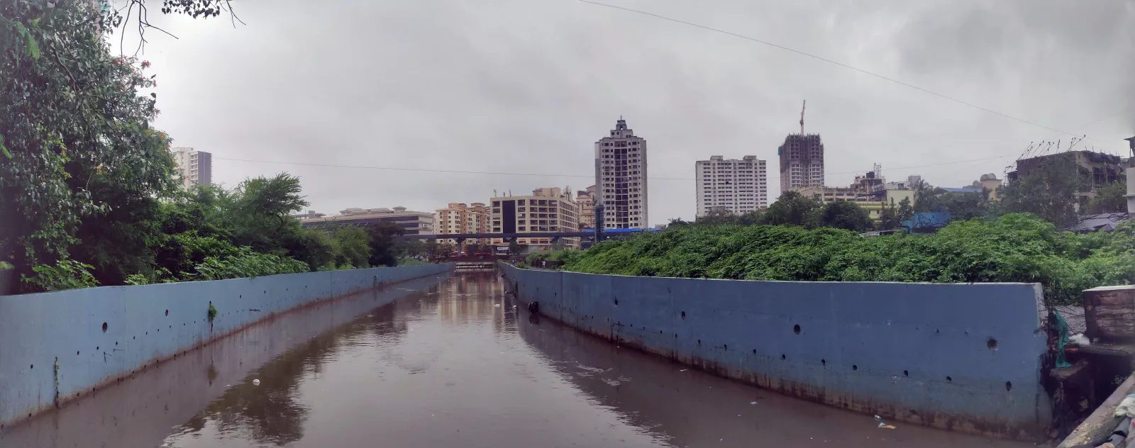
POLYGON ((69 400, 274 313, 451 268, 427 264, 0 296, 0 423, 51 408, 57 390, 60 401, 69 400), (212 322, 210 303, 218 311, 212 322))

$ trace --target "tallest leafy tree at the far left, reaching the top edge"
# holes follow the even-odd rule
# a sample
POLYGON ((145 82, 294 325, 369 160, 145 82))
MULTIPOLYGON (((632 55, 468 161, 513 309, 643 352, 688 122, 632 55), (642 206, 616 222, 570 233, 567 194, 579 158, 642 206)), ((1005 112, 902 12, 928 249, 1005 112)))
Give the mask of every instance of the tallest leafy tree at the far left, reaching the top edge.
POLYGON ((22 274, 84 236, 116 252, 82 254, 98 265, 144 263, 127 254, 176 187, 169 140, 150 126, 155 99, 137 94, 154 85, 149 62, 111 57, 101 22, 82 1, 0 5, 0 259, 22 274))

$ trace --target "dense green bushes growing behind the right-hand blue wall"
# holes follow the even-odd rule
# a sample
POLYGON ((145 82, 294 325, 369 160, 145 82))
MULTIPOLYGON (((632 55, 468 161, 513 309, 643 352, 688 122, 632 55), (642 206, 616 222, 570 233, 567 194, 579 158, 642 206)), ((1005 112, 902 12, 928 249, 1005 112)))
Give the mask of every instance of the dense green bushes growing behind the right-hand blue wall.
POLYGON ((549 259, 624 276, 810 281, 1026 281, 1053 303, 1135 280, 1135 227, 1075 235, 1031 214, 955 221, 938 234, 874 238, 798 226, 678 226, 549 259))

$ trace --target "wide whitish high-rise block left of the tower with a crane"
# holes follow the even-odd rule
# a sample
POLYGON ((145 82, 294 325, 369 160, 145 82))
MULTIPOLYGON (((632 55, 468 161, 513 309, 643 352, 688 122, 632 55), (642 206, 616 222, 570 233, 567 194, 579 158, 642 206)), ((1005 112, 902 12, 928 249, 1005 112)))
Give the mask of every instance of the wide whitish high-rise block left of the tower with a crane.
POLYGON ((697 215, 712 211, 735 214, 768 206, 768 178, 765 161, 756 155, 741 160, 711 155, 693 163, 697 178, 697 215))

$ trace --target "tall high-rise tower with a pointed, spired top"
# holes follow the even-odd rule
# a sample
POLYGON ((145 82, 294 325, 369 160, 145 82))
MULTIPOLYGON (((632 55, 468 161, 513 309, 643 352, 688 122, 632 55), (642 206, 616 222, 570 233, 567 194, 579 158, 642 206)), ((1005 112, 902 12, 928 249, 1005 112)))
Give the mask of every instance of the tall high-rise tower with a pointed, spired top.
POLYGON ((619 118, 611 135, 595 142, 595 201, 604 228, 647 227, 646 140, 619 118))

